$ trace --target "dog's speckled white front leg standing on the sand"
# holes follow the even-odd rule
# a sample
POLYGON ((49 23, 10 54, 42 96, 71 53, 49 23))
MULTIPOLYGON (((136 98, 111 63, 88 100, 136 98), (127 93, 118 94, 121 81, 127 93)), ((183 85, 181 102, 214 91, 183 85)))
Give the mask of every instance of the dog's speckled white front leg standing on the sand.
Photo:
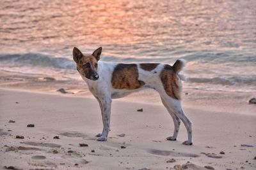
POLYGON ((110 113, 111 113, 111 98, 104 98, 99 99, 100 110, 101 110, 101 116, 102 116, 102 122, 103 122, 103 130, 102 134, 98 134, 97 141, 106 141, 108 139, 108 132, 109 132, 109 126, 110 126, 110 113))

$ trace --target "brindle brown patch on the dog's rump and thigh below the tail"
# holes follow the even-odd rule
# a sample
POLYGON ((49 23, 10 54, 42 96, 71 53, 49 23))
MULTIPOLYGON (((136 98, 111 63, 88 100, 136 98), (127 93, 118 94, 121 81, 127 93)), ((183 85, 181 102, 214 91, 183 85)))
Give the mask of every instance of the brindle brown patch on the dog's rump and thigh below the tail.
POLYGON ((180 99, 182 85, 179 76, 170 65, 165 65, 161 74, 159 75, 164 86, 164 90, 168 96, 174 99, 180 99))

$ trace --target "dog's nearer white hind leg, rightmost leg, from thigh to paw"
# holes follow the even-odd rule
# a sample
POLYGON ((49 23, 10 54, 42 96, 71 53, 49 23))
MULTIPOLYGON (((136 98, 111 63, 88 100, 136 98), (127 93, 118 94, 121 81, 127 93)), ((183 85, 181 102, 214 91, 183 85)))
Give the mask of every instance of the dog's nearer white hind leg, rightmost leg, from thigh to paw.
POLYGON ((164 97, 166 106, 183 122, 188 132, 188 140, 184 141, 184 145, 192 145, 192 122, 186 117, 179 100, 173 99, 172 97, 164 97))

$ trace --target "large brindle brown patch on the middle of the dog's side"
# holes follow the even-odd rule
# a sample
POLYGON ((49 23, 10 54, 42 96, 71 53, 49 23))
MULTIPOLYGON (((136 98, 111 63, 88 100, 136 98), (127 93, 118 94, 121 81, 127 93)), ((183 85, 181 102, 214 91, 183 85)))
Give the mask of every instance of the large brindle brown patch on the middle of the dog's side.
POLYGON ((139 73, 136 64, 118 64, 112 74, 112 86, 114 89, 139 89, 145 85, 138 80, 139 73))

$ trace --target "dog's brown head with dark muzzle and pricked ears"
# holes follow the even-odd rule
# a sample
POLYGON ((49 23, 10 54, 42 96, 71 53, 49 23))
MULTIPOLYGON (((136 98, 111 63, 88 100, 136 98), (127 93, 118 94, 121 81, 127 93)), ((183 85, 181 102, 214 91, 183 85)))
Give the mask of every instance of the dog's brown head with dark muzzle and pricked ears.
POLYGON ((97 73, 98 61, 102 47, 95 50, 92 55, 83 55, 83 53, 76 47, 73 49, 73 59, 76 62, 77 71, 90 80, 98 80, 99 74, 97 73))

